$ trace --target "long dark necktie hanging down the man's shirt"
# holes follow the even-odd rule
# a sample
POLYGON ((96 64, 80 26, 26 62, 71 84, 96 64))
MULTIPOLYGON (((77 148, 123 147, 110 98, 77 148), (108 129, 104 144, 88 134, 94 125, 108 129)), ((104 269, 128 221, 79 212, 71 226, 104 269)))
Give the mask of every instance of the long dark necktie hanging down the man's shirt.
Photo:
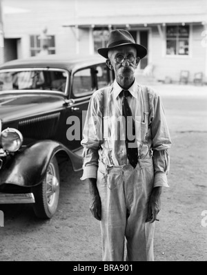
POLYGON ((127 152, 127 158, 132 165, 132 167, 136 167, 137 165, 137 158, 138 158, 138 149, 137 146, 134 148, 135 144, 133 144, 132 147, 129 146, 130 143, 135 143, 136 139, 134 138, 132 140, 132 135, 135 135, 135 121, 127 119, 127 117, 132 118, 132 111, 130 109, 130 106, 128 104, 127 97, 130 95, 129 91, 123 90, 123 101, 122 101, 122 112, 125 117, 126 122, 126 128, 125 128, 125 143, 126 143, 126 152, 127 152))

